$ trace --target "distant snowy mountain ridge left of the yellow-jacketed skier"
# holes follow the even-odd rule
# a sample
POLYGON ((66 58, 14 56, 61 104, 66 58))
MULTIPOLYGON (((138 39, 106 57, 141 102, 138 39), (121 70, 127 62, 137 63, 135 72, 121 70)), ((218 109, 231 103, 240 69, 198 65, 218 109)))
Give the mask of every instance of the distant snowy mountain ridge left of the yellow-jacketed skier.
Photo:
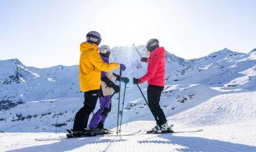
POLYGON ((32 100, 81 95, 78 66, 37 69, 11 59, 0 61, 0 71, 0 110, 32 100))

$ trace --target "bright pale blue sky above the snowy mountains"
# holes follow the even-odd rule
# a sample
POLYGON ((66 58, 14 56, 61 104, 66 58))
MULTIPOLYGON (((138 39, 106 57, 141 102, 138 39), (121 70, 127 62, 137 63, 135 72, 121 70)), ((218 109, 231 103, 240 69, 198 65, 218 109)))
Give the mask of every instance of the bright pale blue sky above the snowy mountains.
POLYGON ((254 0, 0 0, 0 60, 28 66, 74 65, 88 31, 110 47, 160 45, 182 58, 199 58, 224 47, 256 47, 254 0))

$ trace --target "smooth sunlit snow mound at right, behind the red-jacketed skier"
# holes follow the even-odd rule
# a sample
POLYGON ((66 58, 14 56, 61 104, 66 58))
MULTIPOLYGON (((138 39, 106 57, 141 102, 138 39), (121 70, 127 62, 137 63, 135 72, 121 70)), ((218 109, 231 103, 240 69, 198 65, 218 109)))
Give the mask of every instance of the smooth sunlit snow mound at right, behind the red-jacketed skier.
POLYGON ((171 117, 190 126, 243 123, 256 119, 256 92, 215 96, 203 104, 171 117))

